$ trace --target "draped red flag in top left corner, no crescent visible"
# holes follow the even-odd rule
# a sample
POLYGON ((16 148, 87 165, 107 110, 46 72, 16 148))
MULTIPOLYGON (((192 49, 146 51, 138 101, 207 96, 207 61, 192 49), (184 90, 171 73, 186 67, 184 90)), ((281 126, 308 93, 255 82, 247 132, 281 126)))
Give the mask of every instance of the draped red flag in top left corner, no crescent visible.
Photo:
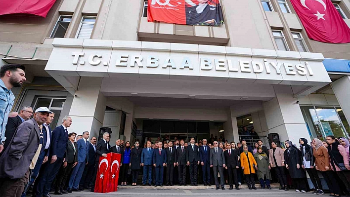
POLYGON ((0 15, 34 14, 46 17, 56 0, 0 0, 0 15))

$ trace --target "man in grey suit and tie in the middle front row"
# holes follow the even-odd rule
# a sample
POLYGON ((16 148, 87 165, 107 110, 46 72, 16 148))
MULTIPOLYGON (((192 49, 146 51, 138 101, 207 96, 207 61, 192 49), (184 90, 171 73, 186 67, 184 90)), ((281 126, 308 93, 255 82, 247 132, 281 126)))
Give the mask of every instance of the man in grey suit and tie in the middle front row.
POLYGON ((210 151, 210 167, 213 167, 214 170, 214 179, 217 190, 219 190, 219 180, 218 180, 218 171, 220 174, 220 184, 221 189, 224 190, 225 182, 223 180, 223 168, 225 165, 225 156, 222 149, 219 147, 218 141, 214 141, 214 148, 210 151))

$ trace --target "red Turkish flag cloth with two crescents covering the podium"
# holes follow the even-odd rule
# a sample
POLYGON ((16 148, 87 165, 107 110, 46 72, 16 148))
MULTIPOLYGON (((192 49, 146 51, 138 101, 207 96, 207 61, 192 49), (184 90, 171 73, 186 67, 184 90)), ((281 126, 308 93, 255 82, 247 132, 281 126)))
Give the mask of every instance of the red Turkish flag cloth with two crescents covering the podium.
POLYGON ((107 157, 100 157, 95 182, 95 193, 115 192, 118 190, 118 178, 121 154, 109 153, 107 157))

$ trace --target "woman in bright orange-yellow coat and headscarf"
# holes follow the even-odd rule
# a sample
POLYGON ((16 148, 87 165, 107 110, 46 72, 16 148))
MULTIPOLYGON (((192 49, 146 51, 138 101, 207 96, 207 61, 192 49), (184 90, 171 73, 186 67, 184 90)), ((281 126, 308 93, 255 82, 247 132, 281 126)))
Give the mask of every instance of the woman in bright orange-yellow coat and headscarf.
POLYGON ((243 153, 241 153, 241 167, 246 177, 246 183, 250 190, 257 189, 255 187, 255 182, 254 182, 255 166, 258 166, 257 162, 255 161, 252 153, 248 151, 248 146, 244 145, 243 153))

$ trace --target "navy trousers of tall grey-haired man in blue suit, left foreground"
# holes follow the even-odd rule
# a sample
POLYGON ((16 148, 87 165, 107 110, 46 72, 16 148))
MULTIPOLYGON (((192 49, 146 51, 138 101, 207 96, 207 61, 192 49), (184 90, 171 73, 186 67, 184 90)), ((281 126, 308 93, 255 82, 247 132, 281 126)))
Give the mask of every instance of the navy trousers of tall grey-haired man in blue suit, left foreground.
POLYGON ((59 168, 62 165, 63 158, 57 158, 53 163, 50 163, 51 157, 48 158, 46 165, 43 167, 43 170, 40 172, 37 181, 35 182, 34 188, 36 189, 35 195, 37 197, 42 197, 43 195, 48 195, 48 192, 51 188, 51 183, 55 179, 56 174, 59 171, 59 168))

